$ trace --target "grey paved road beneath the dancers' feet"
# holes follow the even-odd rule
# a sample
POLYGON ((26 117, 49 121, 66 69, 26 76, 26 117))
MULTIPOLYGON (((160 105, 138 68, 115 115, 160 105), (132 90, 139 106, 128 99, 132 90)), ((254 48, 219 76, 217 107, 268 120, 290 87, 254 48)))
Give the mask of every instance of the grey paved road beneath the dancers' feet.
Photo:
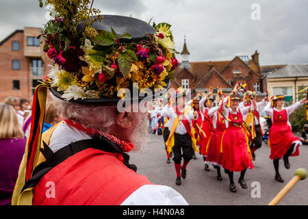
MULTIPOLYGON (((305 168, 308 170, 308 146, 300 147, 298 157, 290 157, 291 168, 285 169, 280 161, 280 173, 284 183, 274 180, 274 166, 269 158, 270 149, 263 145, 256 151, 254 168, 247 170, 246 183, 248 190, 243 190, 238 184, 240 172, 234 173, 234 181, 238 192, 229 191, 229 178, 222 170, 222 181, 216 180, 216 170, 211 167, 205 172, 203 159, 197 155, 187 168, 187 177, 182 179, 180 186, 175 185, 175 168, 173 162, 166 163, 166 152, 162 136, 151 136, 146 148, 139 153, 131 153, 131 163, 138 166, 137 172, 146 175, 152 183, 168 185, 177 190, 190 205, 267 205, 272 198, 292 179, 294 170, 305 168), (257 195, 256 185, 259 182, 260 198, 257 195)), ((296 186, 283 198, 279 205, 308 205, 308 179, 299 181, 296 186)))

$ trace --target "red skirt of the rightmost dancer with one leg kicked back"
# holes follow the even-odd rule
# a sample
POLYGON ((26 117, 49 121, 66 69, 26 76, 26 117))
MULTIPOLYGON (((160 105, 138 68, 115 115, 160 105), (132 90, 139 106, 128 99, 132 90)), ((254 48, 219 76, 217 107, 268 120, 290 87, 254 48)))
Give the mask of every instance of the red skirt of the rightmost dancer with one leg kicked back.
MULTIPOLYGON (((270 159, 283 157, 294 141, 300 141, 293 135, 290 125, 272 125, 270 127, 270 159)), ((291 156, 298 156, 298 146, 291 156)))

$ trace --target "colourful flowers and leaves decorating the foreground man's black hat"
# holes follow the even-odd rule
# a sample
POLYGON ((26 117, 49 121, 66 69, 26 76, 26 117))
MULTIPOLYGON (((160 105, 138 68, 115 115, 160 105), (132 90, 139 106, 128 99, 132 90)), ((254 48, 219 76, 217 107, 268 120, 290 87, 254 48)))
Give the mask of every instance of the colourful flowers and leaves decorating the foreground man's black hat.
POLYGON ((130 89, 133 83, 141 92, 162 89, 179 66, 168 23, 153 23, 155 34, 149 34, 149 40, 125 44, 120 39, 131 39, 131 34, 118 38, 112 27, 110 31, 91 27, 103 17, 94 16, 99 10, 92 4, 88 8, 90 0, 46 0, 48 4, 54 8, 54 18, 42 33, 44 51, 53 61, 48 77, 66 101, 115 97, 120 88, 130 89), (86 25, 79 30, 81 23, 86 25))

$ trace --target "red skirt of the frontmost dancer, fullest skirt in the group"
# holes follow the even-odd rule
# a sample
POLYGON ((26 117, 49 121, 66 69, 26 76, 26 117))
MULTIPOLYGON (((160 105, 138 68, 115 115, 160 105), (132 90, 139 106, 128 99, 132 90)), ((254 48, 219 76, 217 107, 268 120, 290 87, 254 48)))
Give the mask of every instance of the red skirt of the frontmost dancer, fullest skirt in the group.
POLYGON ((253 168, 248 144, 242 128, 229 127, 224 131, 222 139, 222 168, 241 172, 246 168, 253 168))

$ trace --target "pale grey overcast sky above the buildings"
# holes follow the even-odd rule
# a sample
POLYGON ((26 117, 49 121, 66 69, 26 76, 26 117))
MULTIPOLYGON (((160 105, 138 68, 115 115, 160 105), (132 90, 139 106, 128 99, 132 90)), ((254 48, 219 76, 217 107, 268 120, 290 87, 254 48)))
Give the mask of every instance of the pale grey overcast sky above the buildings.
MULTIPOLYGON (((0 40, 47 22, 38 0, 0 3, 0 40)), ((251 58, 257 49, 261 65, 308 63, 307 0, 94 0, 93 7, 102 14, 170 23, 177 51, 186 36, 191 62, 251 58)))

